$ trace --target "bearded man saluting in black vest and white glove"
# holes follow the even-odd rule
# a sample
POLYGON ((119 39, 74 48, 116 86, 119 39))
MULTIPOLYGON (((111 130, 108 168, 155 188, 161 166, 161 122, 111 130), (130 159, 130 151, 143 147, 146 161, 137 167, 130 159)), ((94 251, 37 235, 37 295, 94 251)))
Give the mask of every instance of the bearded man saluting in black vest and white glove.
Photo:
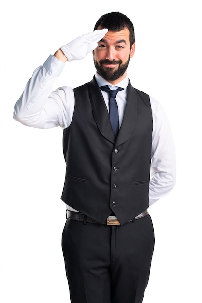
POLYGON ((134 52, 131 21, 119 12, 105 14, 92 33, 62 46, 34 71, 14 108, 14 119, 25 125, 64 130, 62 248, 72 303, 143 301, 154 249, 147 209, 175 183, 166 115, 127 76, 134 52), (52 91, 64 62, 91 51, 93 80, 52 91))

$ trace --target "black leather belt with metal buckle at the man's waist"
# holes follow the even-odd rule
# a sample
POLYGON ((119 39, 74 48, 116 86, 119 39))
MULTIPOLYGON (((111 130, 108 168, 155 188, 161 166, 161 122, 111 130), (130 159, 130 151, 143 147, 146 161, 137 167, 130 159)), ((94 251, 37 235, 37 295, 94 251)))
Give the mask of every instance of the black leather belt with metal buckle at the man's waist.
MULTIPOLYGON (((148 212, 148 210, 146 210, 146 211, 140 213, 134 219, 137 220, 137 219, 143 218, 144 216, 146 216, 148 214, 149 214, 149 212, 148 212)), ((86 221, 87 223, 99 223, 99 224, 101 224, 101 222, 96 221, 96 220, 88 217, 87 215, 85 215, 81 212, 71 212, 71 211, 66 210, 66 218, 76 220, 76 221, 82 221, 82 222, 86 221)), ((130 221, 133 221, 133 220, 130 220, 130 221)), ((109 216, 104 224, 106 224, 106 225, 120 225, 120 222, 118 221, 118 218, 116 216, 109 216)))

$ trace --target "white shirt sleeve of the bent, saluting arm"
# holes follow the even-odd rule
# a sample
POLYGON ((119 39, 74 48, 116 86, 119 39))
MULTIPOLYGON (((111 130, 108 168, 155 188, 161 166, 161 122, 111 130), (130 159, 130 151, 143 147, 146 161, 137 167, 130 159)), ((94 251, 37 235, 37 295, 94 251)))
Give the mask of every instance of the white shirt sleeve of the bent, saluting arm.
POLYGON ((14 119, 36 128, 68 127, 72 121, 74 93, 64 86, 52 91, 65 63, 50 55, 26 84, 14 106, 14 119))

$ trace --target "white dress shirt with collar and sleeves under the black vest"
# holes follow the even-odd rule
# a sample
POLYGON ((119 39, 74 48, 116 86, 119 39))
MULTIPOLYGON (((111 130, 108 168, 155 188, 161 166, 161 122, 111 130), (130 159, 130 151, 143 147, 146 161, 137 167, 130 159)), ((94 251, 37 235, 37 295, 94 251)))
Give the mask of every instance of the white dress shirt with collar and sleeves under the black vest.
MULTIPOLYGON (((70 126, 74 111, 73 89, 63 86, 52 91, 52 87, 61 74, 64 65, 64 62, 58 61, 57 58, 50 55, 43 66, 34 71, 23 94, 15 104, 15 120, 36 128, 60 126, 65 129, 70 126)), ((119 125, 121 126, 126 106, 128 77, 115 86, 108 83, 97 73, 95 77, 99 86, 109 85, 110 89, 116 89, 117 86, 124 88, 116 96, 119 125)), ((109 111, 108 94, 105 91, 101 92, 109 111)), ((167 116, 160 103, 151 96, 150 102, 153 117, 151 178, 149 184, 149 205, 151 206, 172 190, 176 179, 176 165, 173 136, 167 116)), ((67 208, 76 211, 69 206, 67 208)))

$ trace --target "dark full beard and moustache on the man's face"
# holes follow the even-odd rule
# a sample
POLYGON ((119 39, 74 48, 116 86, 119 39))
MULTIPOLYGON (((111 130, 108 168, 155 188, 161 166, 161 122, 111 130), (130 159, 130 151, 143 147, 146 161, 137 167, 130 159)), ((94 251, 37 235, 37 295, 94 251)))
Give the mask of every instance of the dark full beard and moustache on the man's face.
POLYGON ((98 61, 95 61, 95 57, 94 57, 94 64, 95 64, 95 68, 96 68, 98 74, 107 81, 115 81, 118 78, 120 78, 121 76, 123 76, 123 74, 125 73, 125 71, 128 68, 129 61, 130 61, 130 56, 129 56, 128 60, 126 61, 126 63, 124 63, 124 64, 122 63, 122 60, 110 61, 109 59, 101 59, 99 61, 99 63, 100 63, 100 65, 99 65, 98 61), (118 68, 114 69, 114 68, 110 68, 110 67, 103 67, 102 64, 119 64, 119 65, 118 65, 118 68))

